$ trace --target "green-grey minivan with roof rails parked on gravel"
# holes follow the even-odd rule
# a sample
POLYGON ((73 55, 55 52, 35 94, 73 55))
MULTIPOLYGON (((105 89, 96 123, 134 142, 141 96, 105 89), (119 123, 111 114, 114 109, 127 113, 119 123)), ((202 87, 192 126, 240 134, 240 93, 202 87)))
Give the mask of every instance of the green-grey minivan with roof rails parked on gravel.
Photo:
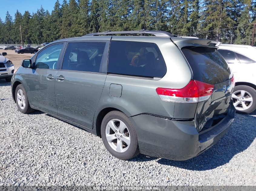
POLYGON ((146 30, 57 40, 22 62, 12 96, 22 113, 41 110, 101 136, 119 159, 187 160, 234 120, 234 78, 218 45, 146 30))

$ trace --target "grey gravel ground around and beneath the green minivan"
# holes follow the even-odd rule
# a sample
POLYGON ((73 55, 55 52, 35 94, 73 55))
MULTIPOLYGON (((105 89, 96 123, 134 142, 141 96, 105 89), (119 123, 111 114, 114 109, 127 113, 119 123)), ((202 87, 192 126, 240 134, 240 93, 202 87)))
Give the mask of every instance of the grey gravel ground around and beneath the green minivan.
POLYGON ((256 185, 256 112, 188 161, 112 157, 101 139, 42 112, 22 114, 0 80, 1 185, 256 185))

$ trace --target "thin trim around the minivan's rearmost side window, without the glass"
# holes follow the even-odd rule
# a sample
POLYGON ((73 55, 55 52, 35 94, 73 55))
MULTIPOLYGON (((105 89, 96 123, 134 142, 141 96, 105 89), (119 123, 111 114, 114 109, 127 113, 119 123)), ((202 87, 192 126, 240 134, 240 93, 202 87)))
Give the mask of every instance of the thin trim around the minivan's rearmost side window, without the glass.
MULTIPOLYGON (((113 41, 119 41, 119 42, 134 42, 134 43, 151 43, 151 42, 141 42, 141 41, 130 41, 130 40, 111 40, 111 42, 113 41)), ((110 46, 111 46, 111 42, 109 44, 109 49, 108 49, 108 62, 109 62, 109 53, 110 53, 110 46)), ((159 46, 156 43, 151 43, 151 44, 155 44, 159 50, 159 52, 161 53, 161 50, 159 48, 159 46)), ((163 57, 163 54, 161 53, 161 56, 165 62, 165 59, 163 57)), ((140 75, 129 75, 129 74, 118 74, 118 73, 112 73, 112 72, 108 72, 108 64, 107 64, 107 74, 108 75, 118 75, 118 76, 123 76, 123 77, 129 77, 129 78, 140 78, 140 79, 161 79, 164 78, 165 75, 167 73, 167 66, 166 66, 166 62, 165 62, 165 74, 162 77, 152 77, 152 76, 140 76, 140 75)))

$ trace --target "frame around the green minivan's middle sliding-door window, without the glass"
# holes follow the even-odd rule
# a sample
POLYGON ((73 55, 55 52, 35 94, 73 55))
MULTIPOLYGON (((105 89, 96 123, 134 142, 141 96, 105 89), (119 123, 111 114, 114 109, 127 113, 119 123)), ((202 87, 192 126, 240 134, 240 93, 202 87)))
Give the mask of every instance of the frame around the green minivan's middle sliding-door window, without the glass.
POLYGON ((59 71, 70 71, 70 72, 84 72, 84 73, 94 73, 94 74, 107 74, 107 64, 108 64, 108 53, 110 47, 110 40, 72 40, 67 41, 63 50, 63 55, 61 58, 61 63, 59 65, 59 71), (89 71, 79 71, 79 70, 62 70, 62 65, 64 61, 64 56, 67 51, 67 47, 69 43, 105 43, 105 48, 103 50, 103 55, 101 59, 101 65, 99 72, 89 72, 89 71))

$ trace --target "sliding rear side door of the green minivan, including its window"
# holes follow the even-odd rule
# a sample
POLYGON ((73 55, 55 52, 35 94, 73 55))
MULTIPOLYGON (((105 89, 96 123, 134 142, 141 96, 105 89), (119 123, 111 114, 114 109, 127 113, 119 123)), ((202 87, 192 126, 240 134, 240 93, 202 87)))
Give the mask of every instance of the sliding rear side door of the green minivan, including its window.
POLYGON ((68 43, 55 80, 58 116, 92 129, 107 76, 103 68, 107 66, 108 47, 107 41, 68 43))

